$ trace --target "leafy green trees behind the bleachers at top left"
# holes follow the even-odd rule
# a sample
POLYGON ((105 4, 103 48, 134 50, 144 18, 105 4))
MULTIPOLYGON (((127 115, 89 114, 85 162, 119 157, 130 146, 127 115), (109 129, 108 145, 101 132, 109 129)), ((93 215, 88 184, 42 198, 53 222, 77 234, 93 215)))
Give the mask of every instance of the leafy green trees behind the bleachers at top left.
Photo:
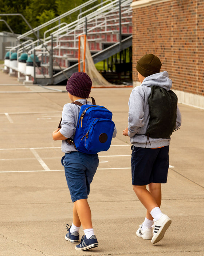
MULTIPOLYGON (((22 14, 30 26, 35 28, 86 2, 87 0, 0 0, 0 19, 4 19, 14 33, 23 34, 30 30, 30 28, 22 17, 8 15, 1 16, 1 14, 22 14)), ((98 0, 98 3, 101 3, 101 0, 98 0)), ((96 4, 97 3, 94 3, 94 5, 96 4)), ((63 20, 60 20, 60 22, 70 23, 77 18, 79 13, 80 12, 78 11, 63 20)), ((52 26, 57 24, 58 23, 53 24, 52 26)), ((49 28, 50 27, 45 30, 49 28)), ((4 22, 0 22, 0 31, 9 31, 4 22)), ((40 37, 43 36, 44 31, 40 31, 40 37)))

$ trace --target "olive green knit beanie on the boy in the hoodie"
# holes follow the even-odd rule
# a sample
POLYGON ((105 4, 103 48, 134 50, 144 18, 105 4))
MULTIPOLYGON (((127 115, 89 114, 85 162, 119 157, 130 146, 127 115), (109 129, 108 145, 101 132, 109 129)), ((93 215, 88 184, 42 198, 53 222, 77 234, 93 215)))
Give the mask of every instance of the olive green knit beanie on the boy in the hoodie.
POLYGON ((137 71, 144 77, 156 74, 161 69, 160 59, 152 53, 142 56, 136 65, 137 71))

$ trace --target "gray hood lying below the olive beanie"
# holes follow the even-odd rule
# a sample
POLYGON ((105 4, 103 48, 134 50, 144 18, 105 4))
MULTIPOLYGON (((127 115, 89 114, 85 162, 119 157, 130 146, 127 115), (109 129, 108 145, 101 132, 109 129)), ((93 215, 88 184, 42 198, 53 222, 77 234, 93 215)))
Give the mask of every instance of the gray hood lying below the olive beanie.
POLYGON ((156 73, 150 76, 147 76, 141 86, 160 86, 167 91, 169 91, 172 87, 172 80, 169 78, 169 74, 167 71, 163 71, 160 73, 156 73))

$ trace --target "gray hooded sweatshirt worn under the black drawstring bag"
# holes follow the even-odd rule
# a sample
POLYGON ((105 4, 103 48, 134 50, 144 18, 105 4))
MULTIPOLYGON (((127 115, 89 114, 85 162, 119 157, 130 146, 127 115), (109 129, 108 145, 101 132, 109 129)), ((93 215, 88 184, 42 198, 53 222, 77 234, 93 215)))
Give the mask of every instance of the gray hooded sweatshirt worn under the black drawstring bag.
MULTIPOLYGON (((149 123, 149 105, 148 98, 151 94, 151 87, 148 86, 161 86, 167 91, 172 87, 172 80, 169 79, 168 72, 160 72, 147 76, 140 86, 132 90, 129 98, 129 117, 128 117, 128 135, 130 142, 135 147, 157 148, 168 146, 170 138, 149 138, 150 143, 147 142, 147 136, 137 134, 145 134, 149 123), (146 85, 146 86, 145 86, 146 85), (151 144, 151 145, 150 145, 151 144)), ((176 127, 181 126, 181 113, 177 106, 177 119, 176 127)))

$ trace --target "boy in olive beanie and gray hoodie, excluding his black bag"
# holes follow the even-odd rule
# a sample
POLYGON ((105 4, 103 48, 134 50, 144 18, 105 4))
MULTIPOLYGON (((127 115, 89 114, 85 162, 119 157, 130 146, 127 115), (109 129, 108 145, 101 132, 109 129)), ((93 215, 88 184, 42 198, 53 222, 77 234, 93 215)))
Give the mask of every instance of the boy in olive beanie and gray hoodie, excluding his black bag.
MULTIPOLYGON (((169 168, 170 138, 150 138, 147 144, 145 133, 149 125, 148 98, 151 86, 160 86, 167 91, 172 87, 166 71, 160 72, 161 61, 154 54, 145 54, 137 61, 140 86, 132 90, 129 98, 128 128, 123 135, 132 143, 132 185, 138 199, 146 208, 146 218, 136 234, 152 244, 159 242, 171 220, 160 210, 161 184, 166 183, 169 168), (148 185, 149 190, 146 189, 148 185), (153 221, 154 219, 154 221, 153 221), (153 228, 154 226, 154 228, 153 228)), ((181 113, 177 107, 176 127, 181 125, 181 113)))

